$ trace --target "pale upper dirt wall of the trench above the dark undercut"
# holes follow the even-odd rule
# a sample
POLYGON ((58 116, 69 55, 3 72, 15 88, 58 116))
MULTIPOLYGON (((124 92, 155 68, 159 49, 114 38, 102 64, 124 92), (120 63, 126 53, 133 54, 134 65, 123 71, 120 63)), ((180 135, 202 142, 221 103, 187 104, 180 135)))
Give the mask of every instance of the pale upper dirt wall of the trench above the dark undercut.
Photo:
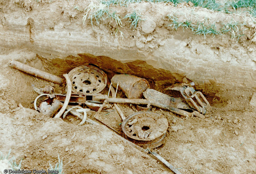
MULTIPOLYGON (((122 62, 146 61, 186 76, 199 84, 225 84, 228 87, 256 87, 255 19, 239 14, 225 14, 180 4, 131 4, 128 8, 115 6, 118 13, 139 9, 144 16, 136 30, 123 21, 122 36, 113 32, 112 21, 99 26, 87 20, 82 23, 83 10, 89 2, 60 0, 34 2, 3 1, 0 11, 0 43, 7 48, 28 48, 44 58, 66 58, 78 53, 109 56, 122 62), (191 14, 191 11, 194 11, 191 14), (166 15, 196 20, 208 18, 216 24, 236 20, 246 23, 246 31, 238 42, 230 35, 194 35, 189 30, 175 31, 168 26, 166 15)), ((115 29, 115 28, 114 28, 115 29)), ((120 29, 120 30, 121 30, 120 29)))

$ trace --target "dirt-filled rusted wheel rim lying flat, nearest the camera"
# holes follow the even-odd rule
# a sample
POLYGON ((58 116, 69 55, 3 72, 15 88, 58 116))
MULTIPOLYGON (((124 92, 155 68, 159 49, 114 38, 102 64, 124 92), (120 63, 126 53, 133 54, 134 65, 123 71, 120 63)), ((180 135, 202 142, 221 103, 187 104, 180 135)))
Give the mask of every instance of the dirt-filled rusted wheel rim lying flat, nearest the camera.
POLYGON ((153 111, 133 113, 122 122, 125 138, 143 148, 162 145, 167 128, 168 121, 165 116, 153 111))

